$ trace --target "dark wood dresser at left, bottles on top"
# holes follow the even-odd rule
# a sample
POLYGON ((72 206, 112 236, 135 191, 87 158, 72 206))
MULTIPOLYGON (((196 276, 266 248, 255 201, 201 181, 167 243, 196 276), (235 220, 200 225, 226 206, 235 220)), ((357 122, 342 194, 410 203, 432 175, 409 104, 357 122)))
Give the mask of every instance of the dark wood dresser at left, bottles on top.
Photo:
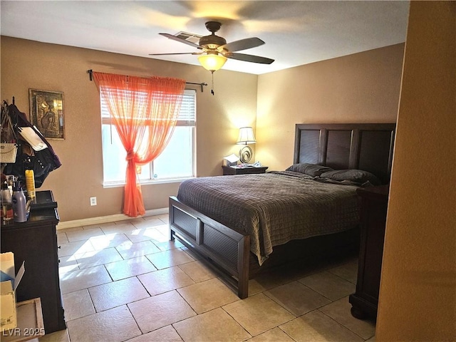
POLYGON ((16 301, 41 298, 46 333, 66 328, 63 316, 56 225, 59 217, 51 191, 37 192, 41 203, 32 207, 27 222, 1 224, 1 252, 14 253, 16 273, 25 261, 25 274, 16 290, 16 301))

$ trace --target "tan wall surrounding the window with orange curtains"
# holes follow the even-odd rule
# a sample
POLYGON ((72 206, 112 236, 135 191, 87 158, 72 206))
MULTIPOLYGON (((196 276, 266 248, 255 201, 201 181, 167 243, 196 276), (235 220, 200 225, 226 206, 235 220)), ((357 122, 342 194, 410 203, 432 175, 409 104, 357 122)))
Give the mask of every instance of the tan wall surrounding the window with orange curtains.
MULTIPOLYGON (((197 93, 198 176, 221 175, 222 157, 239 150, 235 145, 238 128, 255 127, 256 75, 217 71, 213 96, 210 73, 200 66, 1 36, 1 100, 11 103, 15 96, 19 110, 28 114, 28 88, 64 93, 66 139, 51 140, 63 165, 38 189, 53 190, 63 222, 120 214, 123 203, 123 187, 102 186, 100 100, 88 69, 208 83, 203 93, 197 93), (95 207, 90 207, 92 196, 98 200, 95 207)), ((145 209, 167 207, 178 185, 143 186, 145 209)))

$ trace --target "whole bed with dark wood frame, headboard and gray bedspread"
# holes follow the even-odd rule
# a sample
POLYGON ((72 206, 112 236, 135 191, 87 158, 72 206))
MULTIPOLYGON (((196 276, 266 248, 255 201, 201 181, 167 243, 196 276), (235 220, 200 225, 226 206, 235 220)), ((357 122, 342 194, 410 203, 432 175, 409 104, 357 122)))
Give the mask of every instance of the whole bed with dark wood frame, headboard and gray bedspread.
POLYGON ((297 124, 287 170, 182 182, 170 197, 170 239, 197 254, 241 299, 249 279, 267 266, 353 252, 356 188, 389 182, 394 135, 390 123, 297 124), (341 180, 338 170, 363 170, 375 179, 341 180))

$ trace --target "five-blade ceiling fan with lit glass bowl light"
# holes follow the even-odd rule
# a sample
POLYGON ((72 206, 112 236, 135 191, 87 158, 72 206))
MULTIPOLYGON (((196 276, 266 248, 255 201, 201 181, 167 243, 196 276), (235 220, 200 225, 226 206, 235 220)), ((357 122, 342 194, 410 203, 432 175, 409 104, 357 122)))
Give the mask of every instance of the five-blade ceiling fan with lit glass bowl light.
POLYGON ((202 36, 199 38, 198 44, 185 40, 184 38, 180 38, 179 36, 173 36, 169 33, 160 33, 160 35, 170 38, 174 41, 179 41, 180 43, 185 43, 187 45, 193 46, 194 48, 200 50, 199 52, 150 53, 150 56, 199 55, 199 63, 201 63, 205 69, 211 71, 212 73, 222 68, 222 66, 224 66, 224 63, 227 61, 227 58, 237 59, 238 61, 263 64, 271 64, 274 62, 274 59, 271 58, 235 52, 263 45, 264 41, 261 41, 260 38, 245 38, 240 39, 239 41, 232 41, 231 43, 227 43, 224 38, 215 35, 215 32, 219 31, 220 27, 222 26, 219 21, 207 21, 205 25, 211 34, 209 34, 209 36, 202 36))

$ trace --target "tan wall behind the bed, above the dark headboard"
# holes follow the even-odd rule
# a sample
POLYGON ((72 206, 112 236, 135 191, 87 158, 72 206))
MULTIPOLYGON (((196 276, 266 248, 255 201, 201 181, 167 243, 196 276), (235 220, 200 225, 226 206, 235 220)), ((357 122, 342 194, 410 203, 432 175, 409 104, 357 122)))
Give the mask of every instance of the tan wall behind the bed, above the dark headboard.
POLYGON ((257 160, 293 162, 296 123, 395 123, 404 44, 259 76, 257 160))

